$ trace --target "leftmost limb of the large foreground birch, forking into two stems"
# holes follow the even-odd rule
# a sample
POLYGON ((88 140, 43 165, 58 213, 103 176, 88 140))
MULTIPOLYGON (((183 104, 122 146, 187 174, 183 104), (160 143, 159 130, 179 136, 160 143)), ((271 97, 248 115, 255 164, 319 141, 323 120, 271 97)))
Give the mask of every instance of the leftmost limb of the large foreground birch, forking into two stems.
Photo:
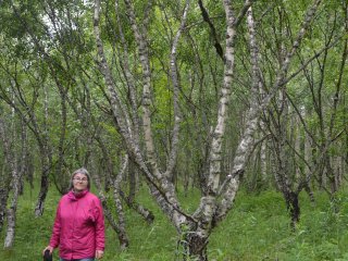
MULTIPOLYGON (((109 95, 112 102, 112 110, 114 113, 115 119, 117 120, 117 128, 121 135, 124 138, 125 144, 127 145, 128 152, 134 156, 135 162, 138 164, 139 169, 144 172, 145 176, 147 177, 150 187, 158 192, 153 192, 152 195, 158 196, 158 201, 165 201, 164 204, 170 206, 170 209, 175 211, 172 213, 173 223, 179 229, 181 224, 185 222, 186 217, 181 213, 179 203, 176 199, 175 188, 174 185, 166 178, 158 167, 156 153, 154 153, 154 146, 153 146, 153 138, 152 138, 152 130, 151 130, 151 117, 150 117, 150 87, 151 87, 151 74, 150 74, 150 63, 148 59, 148 50, 146 44, 146 28, 142 27, 141 29, 138 27, 135 14, 133 11, 133 7, 130 1, 125 0, 126 9, 128 13, 128 17, 130 21, 130 25, 138 45, 138 54, 141 62, 142 67, 142 132, 144 132, 144 140, 145 140, 145 148, 146 148, 146 156, 144 157, 141 153, 141 149, 138 144, 134 142, 132 137, 134 134, 132 133, 132 125, 130 121, 128 120, 129 116, 124 109, 124 104, 122 103, 119 95, 116 92, 116 88, 114 86, 114 80, 112 78, 111 71, 109 69, 107 59, 103 52, 102 41, 100 39, 100 30, 99 30, 99 10, 100 10, 100 1, 96 0, 95 7, 95 37, 97 40, 97 48, 99 57, 101 58, 100 61, 100 70, 104 75, 109 95)), ((146 24, 146 23, 145 23, 146 24)), ((167 173, 169 175, 169 173, 167 173)))

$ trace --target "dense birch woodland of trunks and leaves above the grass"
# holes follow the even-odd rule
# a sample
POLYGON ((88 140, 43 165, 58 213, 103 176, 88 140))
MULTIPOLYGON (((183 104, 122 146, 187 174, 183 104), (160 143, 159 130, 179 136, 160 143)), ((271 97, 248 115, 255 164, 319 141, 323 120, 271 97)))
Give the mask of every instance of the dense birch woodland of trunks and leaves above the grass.
MULTIPOLYGON (((105 219, 149 224, 139 187, 208 260, 240 187, 334 201, 348 162, 345 0, 0 2, 0 232, 14 243, 25 184, 45 213, 87 167, 105 219), (195 190, 195 208, 183 208, 195 190), (5 222, 7 221, 7 222, 5 222), (7 225, 7 226, 4 226, 7 225)), ((194 199, 192 199, 194 200, 194 199)))

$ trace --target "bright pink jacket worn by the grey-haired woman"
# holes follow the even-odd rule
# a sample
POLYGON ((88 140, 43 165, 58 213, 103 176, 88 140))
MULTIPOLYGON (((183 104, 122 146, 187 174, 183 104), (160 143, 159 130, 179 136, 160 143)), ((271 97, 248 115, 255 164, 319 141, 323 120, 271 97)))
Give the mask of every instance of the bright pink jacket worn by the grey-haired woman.
POLYGON ((57 210, 50 246, 63 259, 94 258, 104 250, 104 219, 97 196, 88 190, 64 195, 57 210))

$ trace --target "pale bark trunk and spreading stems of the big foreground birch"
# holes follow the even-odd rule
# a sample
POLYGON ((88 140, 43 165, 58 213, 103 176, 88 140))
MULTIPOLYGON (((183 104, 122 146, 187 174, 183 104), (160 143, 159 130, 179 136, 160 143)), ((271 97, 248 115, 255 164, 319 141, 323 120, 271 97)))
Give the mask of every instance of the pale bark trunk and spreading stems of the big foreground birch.
MULTIPOLYGON (((217 221, 221 221, 228 210, 232 208, 232 202, 239 186, 239 175, 245 172, 247 159, 250 154, 250 150, 253 146, 253 133, 257 129, 257 123, 259 114, 262 110, 266 108, 270 100, 275 97, 278 89, 283 87, 283 80, 285 79, 289 62, 295 54, 300 41, 306 33, 306 28, 310 23, 312 16, 306 22, 301 28, 299 36, 296 38, 293 48, 288 51, 283 67, 277 72, 276 83, 270 95, 265 97, 262 102, 258 101, 258 96, 260 95, 260 69, 258 66, 258 50, 257 42, 254 39, 254 25, 252 20, 251 9, 249 12, 249 32, 250 32, 250 46, 252 50, 251 63, 252 63, 252 88, 251 88, 251 99, 250 108, 246 113, 246 127, 243 133, 243 137, 239 141, 238 148, 236 150, 236 157, 234 158, 234 165, 228 177, 221 185, 220 178, 222 173, 222 147, 223 139, 226 135, 226 122, 228 120, 228 108, 232 92, 233 75, 234 75, 234 63, 235 63, 235 38, 236 28, 241 23, 243 17, 247 13, 248 9, 251 7, 252 1, 246 0, 244 7, 240 9, 238 15, 234 13, 232 8, 232 0, 223 0, 223 5, 226 14, 226 50, 225 50, 225 64, 224 64, 224 76, 222 88, 219 98, 219 108, 216 115, 216 124, 213 127, 211 150, 210 150, 210 169, 207 181, 207 190, 200 199, 200 203, 195 211, 194 215, 190 216, 183 212, 179 207, 179 202, 175 195, 175 189, 173 183, 170 181, 171 172, 175 166, 176 161, 176 145, 178 139, 178 123, 181 121, 178 108, 175 108, 175 99, 177 98, 176 90, 179 85, 178 77, 176 77, 176 47, 175 42, 179 37, 181 30, 184 26, 185 11, 182 16, 182 23, 179 32, 176 34, 172 49, 171 49, 171 76, 173 83, 173 99, 174 99, 174 128, 173 138, 171 140, 173 150, 167 159, 167 165, 165 171, 159 169, 158 159, 156 157, 156 147, 151 129, 151 71, 147 46, 147 29, 146 26, 139 26, 135 17, 134 8, 130 0, 124 0, 127 11, 127 17, 129 18, 130 26, 135 36, 137 44, 138 57, 142 70, 142 135, 145 142, 145 152, 132 142, 132 136, 129 134, 129 122, 126 120, 128 114, 123 109, 121 99, 117 97, 116 88, 113 84, 113 78, 107 59, 103 53, 103 46, 100 39, 99 32, 99 9, 100 1, 96 0, 95 8, 95 37, 97 41, 98 54, 101 58, 100 70, 104 75, 104 79, 108 86, 108 94, 111 98, 112 110, 114 117, 117 121, 117 129, 123 136, 125 144, 127 145, 127 150, 133 157, 135 162, 138 164, 139 169, 144 172, 148 185, 150 187, 151 194, 157 200, 158 204, 161 207, 162 211, 171 219, 172 223, 176 227, 177 232, 182 234, 185 238, 187 246, 187 254, 198 260, 207 260, 207 244, 209 235, 212 228, 216 225, 217 221), (217 201, 219 199, 219 201, 217 201), (185 224, 183 226, 183 224, 185 224), (188 227, 183 229, 183 227, 188 227)), ((314 5, 319 4, 320 1, 315 1, 314 5)), ((315 10, 311 10, 315 11, 315 10)), ((144 22, 145 25, 147 21, 144 22)))

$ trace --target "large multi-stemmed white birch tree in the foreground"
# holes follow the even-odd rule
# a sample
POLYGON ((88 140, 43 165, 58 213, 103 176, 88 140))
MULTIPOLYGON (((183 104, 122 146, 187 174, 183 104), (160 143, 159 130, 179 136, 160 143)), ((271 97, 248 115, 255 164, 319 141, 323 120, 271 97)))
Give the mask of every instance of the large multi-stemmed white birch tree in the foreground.
MULTIPOLYGON (((120 86, 117 84, 120 75, 114 74, 114 70, 108 62, 108 55, 105 54, 105 45, 100 33, 101 21, 101 3, 99 0, 95 1, 95 38, 97 44, 100 72, 103 75, 107 85, 107 94, 111 101, 111 109, 116 120, 116 129, 120 132, 128 154, 137 163, 138 167, 144 173, 152 196, 158 201, 158 204, 162 211, 169 216, 173 225, 176 227, 177 233, 183 238, 181 241, 184 257, 195 257, 198 260, 207 260, 207 245, 209 236, 212 229, 219 222, 224 220, 228 211, 232 209, 233 201, 239 188, 239 177, 245 172, 246 163, 250 150, 253 146, 253 133, 257 129, 257 123, 262 110, 269 104, 271 98, 275 97, 278 89, 285 86, 288 80, 287 72, 290 65, 290 61, 299 48, 301 40, 303 39, 307 29, 309 28, 315 11, 321 1, 313 1, 309 7, 308 12, 303 18, 303 23, 300 26, 297 37, 294 39, 293 46, 285 51, 285 55, 282 61, 282 67, 276 72, 276 80, 269 91, 268 96, 259 100, 259 84, 260 74, 258 70, 258 52, 257 44, 254 44, 254 25, 252 23, 251 10, 249 13, 249 37, 250 37, 250 61, 252 64, 251 75, 251 88, 249 98, 249 109, 246 112, 247 120, 244 128, 243 136, 238 141, 238 147, 235 152, 233 167, 229 171, 227 177, 221 181, 222 177, 222 145, 226 134, 226 122, 228 120, 228 109, 232 96, 232 88, 235 73, 235 45, 236 36, 238 35, 238 26, 244 21, 247 11, 251 8, 252 1, 245 1, 239 9, 234 7, 232 1, 223 1, 223 8, 225 11, 225 24, 226 24, 226 41, 224 50, 224 74, 222 77, 222 84, 220 89, 220 96, 217 100, 217 112, 215 119, 215 126, 212 130, 211 150, 209 154, 209 170, 208 178, 204 186, 207 189, 200 198, 200 202, 197 210, 194 213, 185 212, 177 199, 177 195, 174 189, 174 184, 171 179, 173 170, 177 160, 178 139, 179 139, 179 123, 182 121, 182 114, 179 111, 178 91, 182 82, 179 80, 179 72, 177 71, 177 50, 181 36, 185 33, 185 26, 187 15, 189 13, 189 1, 186 1, 184 7, 176 2, 177 7, 181 7, 182 15, 181 21, 177 23, 177 27, 173 33, 173 38, 170 45, 170 58, 167 59, 169 73, 171 75, 170 83, 172 87, 173 99, 173 128, 171 135, 170 153, 166 159, 166 164, 163 166, 158 160, 156 144, 153 140, 153 124, 151 121, 151 105, 153 97, 152 85, 153 76, 151 70, 151 57, 148 42, 149 34, 149 20, 151 13, 154 12, 156 2, 148 1, 145 5, 145 12, 140 17, 136 15, 138 12, 135 10, 135 3, 129 0, 124 1, 124 8, 127 13, 128 23, 132 27, 135 44, 137 46, 137 58, 141 65, 141 113, 138 111, 129 111, 126 108, 133 107, 135 103, 136 91, 134 83, 134 74, 129 72, 123 77, 126 80, 129 97, 132 99, 124 100, 122 92, 120 92, 120 86), (139 20, 142 22, 140 23, 139 20), (125 103, 126 101, 126 103, 125 103), (141 117, 141 125, 138 125, 139 121, 135 119, 141 117), (144 147, 141 142, 144 142, 144 147)), ((119 1, 115 2, 120 8, 119 1)), ((116 9, 116 15, 120 13, 116 9)), ((119 21, 120 23, 120 21, 119 21)), ((124 21, 122 22, 124 23, 124 21)), ((119 24, 120 26, 120 24, 119 24)), ((122 32, 119 30, 122 37, 122 32)), ((115 42, 116 44, 116 42, 115 42)), ((121 47, 122 48, 122 47, 121 47)), ((124 58, 124 57, 123 57, 124 58)), ((127 61, 125 58, 124 63, 127 61)))

